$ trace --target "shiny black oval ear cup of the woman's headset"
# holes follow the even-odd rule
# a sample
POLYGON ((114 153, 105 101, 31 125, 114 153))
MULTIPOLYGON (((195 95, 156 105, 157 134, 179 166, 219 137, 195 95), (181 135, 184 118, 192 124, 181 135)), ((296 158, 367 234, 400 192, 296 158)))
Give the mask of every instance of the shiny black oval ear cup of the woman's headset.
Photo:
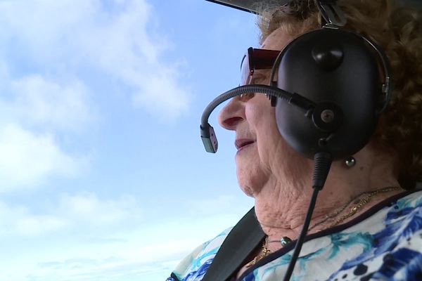
POLYGON ((302 34, 286 46, 279 65, 274 65, 277 87, 317 105, 338 107, 343 114, 341 124, 327 130, 297 108, 276 103, 277 126, 287 143, 312 159, 316 152, 342 159, 366 145, 378 122, 382 84, 374 53, 361 35, 325 28, 302 34))

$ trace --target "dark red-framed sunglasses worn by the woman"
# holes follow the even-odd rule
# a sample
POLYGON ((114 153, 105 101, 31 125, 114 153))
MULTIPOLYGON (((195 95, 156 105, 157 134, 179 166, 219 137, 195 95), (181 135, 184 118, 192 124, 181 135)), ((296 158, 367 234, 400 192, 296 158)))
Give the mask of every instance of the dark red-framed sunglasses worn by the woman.
POLYGON ((271 69, 280 51, 248 48, 241 63, 241 85, 251 84, 255 70, 271 69))

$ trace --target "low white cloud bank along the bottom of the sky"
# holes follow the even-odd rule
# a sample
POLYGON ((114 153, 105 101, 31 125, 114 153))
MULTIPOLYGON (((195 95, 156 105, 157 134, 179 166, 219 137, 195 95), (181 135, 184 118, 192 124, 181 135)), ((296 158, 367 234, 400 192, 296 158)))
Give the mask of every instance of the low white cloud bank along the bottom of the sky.
MULTIPOLYGON (((170 215, 145 223, 137 221, 139 209, 136 206, 139 202, 127 195, 116 200, 104 200, 84 192, 63 195, 59 202, 44 214, 32 214, 34 211, 27 207, 0 203, 0 235, 1 230, 9 231, 9 234, 13 230, 12 234, 18 235, 17 241, 24 243, 18 249, 20 259, 0 264, 1 280, 165 280, 188 252, 234 225, 240 218, 234 214, 193 219, 170 215), (98 223, 96 216, 101 217, 101 213, 119 219, 98 223), (113 216, 113 213, 118 215, 113 216), (87 216, 84 217, 84 214, 87 216), (42 226, 43 218, 44 221, 59 223, 50 223, 47 225, 49 230, 37 233, 40 229, 37 226, 42 226), (30 235, 31 229, 33 235, 25 238, 22 232, 18 232, 22 229, 18 226, 31 219, 39 221, 39 224, 33 228, 27 226, 26 235, 30 235), (120 226, 121 221, 130 226, 120 226), (111 230, 104 231, 106 226, 111 226, 111 230), (173 231, 175 229, 183 231, 173 231), (82 238, 88 234, 95 236, 96 241, 82 238), (115 240, 98 242, 105 236, 113 236, 115 240), (47 240, 42 240, 42 237, 47 237, 47 240)), ((1 239, 8 241, 8 237, 1 239)))

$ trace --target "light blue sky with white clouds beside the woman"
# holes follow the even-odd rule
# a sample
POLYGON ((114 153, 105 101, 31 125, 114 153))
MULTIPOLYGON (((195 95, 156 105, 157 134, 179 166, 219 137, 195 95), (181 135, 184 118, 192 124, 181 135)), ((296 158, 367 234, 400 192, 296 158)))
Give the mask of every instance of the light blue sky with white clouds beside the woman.
POLYGON ((250 207, 234 134, 255 17, 205 0, 0 1, 0 280, 165 280, 250 207))

